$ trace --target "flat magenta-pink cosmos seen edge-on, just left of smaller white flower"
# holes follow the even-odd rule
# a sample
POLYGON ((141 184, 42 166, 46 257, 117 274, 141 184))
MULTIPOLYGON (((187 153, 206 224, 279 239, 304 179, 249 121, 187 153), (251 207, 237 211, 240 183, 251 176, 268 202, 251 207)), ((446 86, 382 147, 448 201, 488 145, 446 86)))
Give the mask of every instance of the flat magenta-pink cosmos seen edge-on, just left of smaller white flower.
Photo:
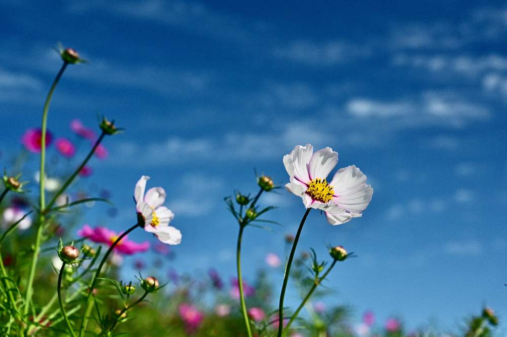
MULTIPOLYGON (((87 224, 83 226, 81 230, 78 231, 78 235, 81 237, 87 237, 93 242, 104 243, 106 245, 111 246, 119 234, 105 228, 105 227, 95 227, 91 228, 87 224)), ((119 253, 125 255, 132 255, 135 253, 140 253, 147 251, 150 248, 150 243, 148 241, 144 241, 142 243, 136 243, 133 241, 127 240, 127 236, 125 236, 116 246, 115 250, 119 253)))

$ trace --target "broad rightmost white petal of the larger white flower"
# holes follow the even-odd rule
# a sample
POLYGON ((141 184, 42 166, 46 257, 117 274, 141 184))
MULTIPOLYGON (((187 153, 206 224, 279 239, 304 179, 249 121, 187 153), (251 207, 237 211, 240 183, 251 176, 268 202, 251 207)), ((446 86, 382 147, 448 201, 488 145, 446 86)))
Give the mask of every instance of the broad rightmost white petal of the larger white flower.
POLYGON ((354 165, 339 169, 330 185, 335 197, 333 202, 349 212, 362 213, 373 196, 373 189, 366 184, 366 175, 354 165))

